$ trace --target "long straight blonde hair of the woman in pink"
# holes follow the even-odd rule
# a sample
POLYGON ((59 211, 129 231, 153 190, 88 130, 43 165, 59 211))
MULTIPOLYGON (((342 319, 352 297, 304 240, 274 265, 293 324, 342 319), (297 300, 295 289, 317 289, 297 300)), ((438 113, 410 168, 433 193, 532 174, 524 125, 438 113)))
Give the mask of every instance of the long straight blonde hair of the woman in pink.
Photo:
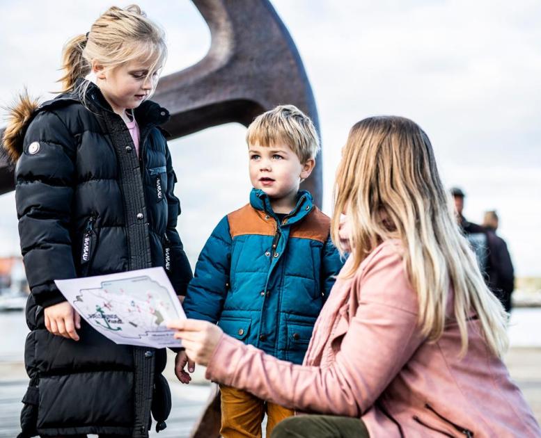
POLYGON ((331 236, 340 245, 340 213, 350 220, 350 245, 359 267, 379 243, 399 238, 405 270, 417 293, 421 332, 437 341, 446 324, 450 286, 464 355, 467 319, 474 311, 490 350, 508 346, 506 314, 489 291, 476 257, 453 216, 424 131, 402 117, 369 117, 354 124, 336 172, 331 236))

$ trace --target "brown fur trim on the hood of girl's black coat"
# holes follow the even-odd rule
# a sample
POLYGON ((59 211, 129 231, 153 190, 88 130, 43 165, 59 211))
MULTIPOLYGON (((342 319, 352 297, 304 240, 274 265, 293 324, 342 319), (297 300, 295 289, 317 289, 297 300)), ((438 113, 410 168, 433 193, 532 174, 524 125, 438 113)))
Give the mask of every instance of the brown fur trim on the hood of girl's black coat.
POLYGON ((24 134, 38 106, 38 99, 32 99, 26 90, 13 105, 8 106, 8 126, 3 131, 1 150, 6 161, 15 163, 21 156, 24 134))

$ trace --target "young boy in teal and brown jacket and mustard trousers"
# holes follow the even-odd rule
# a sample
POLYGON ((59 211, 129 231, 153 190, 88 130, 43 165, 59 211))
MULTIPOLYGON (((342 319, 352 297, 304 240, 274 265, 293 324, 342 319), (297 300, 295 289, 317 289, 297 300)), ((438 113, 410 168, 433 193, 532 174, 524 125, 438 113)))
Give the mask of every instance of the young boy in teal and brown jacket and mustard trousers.
MULTIPOLYGON (((254 120, 246 133, 250 203, 225 216, 199 256, 183 307, 188 318, 301 364, 313 325, 342 267, 330 219, 299 184, 320 149, 311 120, 292 105, 254 120)), ((189 380, 179 353, 178 378, 189 380)), ((293 412, 230 387, 221 391, 221 435, 267 437, 293 412)))

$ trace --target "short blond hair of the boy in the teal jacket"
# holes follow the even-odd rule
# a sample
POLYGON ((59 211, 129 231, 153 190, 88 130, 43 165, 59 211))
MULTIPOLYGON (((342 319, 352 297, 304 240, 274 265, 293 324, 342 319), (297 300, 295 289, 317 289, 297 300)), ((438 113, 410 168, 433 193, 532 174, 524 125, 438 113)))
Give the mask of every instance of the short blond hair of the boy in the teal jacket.
POLYGON ((285 143, 303 164, 315 159, 320 151, 320 140, 312 120, 295 105, 279 105, 258 115, 248 127, 246 143, 262 147, 285 143))

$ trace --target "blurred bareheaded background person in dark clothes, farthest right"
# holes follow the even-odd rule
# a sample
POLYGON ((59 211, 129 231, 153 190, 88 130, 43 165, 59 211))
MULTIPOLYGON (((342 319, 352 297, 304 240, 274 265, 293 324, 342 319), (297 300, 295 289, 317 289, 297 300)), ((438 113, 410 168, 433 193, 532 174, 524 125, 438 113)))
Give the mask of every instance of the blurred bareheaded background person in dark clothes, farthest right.
POLYGON ((489 268, 487 269, 488 286, 498 296, 505 307, 511 311, 511 294, 515 289, 515 270, 507 244, 496 234, 498 229, 498 215, 496 211, 485 211, 483 227, 487 232, 487 242, 490 248, 489 268))

